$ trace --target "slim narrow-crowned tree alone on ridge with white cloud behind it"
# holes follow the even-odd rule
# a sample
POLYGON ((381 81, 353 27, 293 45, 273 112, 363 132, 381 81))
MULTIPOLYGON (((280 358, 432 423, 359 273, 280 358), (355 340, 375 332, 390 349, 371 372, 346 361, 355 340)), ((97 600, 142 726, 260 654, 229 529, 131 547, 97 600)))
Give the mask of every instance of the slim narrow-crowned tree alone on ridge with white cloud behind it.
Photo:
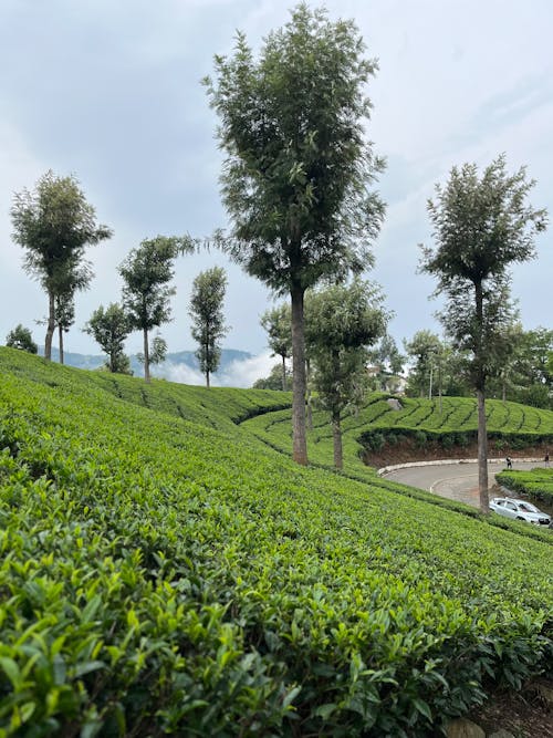
POLYGON ((192 339, 199 347, 196 357, 200 363, 200 371, 206 376, 206 386, 209 388, 209 375, 217 372, 221 361, 219 341, 227 335, 222 314, 222 301, 227 288, 227 274, 221 267, 213 267, 200 272, 194 280, 190 298, 189 315, 194 321, 192 339))

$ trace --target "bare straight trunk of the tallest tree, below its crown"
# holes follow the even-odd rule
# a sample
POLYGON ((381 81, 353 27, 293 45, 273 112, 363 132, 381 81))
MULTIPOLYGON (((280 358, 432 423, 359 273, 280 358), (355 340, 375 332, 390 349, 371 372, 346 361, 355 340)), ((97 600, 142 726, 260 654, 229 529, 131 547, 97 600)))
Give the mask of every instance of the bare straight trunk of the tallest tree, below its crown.
POLYGON ((292 356, 293 356, 293 398, 292 436, 293 459, 298 464, 307 464, 307 441, 305 437, 305 336, 303 330, 304 289, 293 284, 292 299, 292 356))

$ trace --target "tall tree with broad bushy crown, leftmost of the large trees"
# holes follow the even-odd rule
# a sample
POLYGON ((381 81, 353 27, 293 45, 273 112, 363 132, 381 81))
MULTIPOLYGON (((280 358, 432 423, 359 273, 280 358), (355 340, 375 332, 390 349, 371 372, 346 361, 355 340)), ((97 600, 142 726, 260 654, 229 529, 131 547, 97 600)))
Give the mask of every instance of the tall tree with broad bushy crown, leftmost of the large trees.
POLYGON ((13 239, 25 249, 24 270, 36 278, 49 299, 44 356, 52 356, 55 330, 55 298, 67 268, 74 269, 86 246, 109 238, 107 226, 98 226, 94 208, 86 202, 77 180, 55 177, 49 170, 33 191, 15 194, 11 208, 13 239))

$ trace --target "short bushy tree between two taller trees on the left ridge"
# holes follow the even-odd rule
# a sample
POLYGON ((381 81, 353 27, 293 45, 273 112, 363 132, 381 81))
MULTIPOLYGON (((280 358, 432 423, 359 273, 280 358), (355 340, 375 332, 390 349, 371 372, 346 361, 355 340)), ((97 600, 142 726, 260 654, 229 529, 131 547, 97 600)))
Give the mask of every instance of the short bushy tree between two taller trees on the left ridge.
POLYGON ((92 335, 102 351, 107 354, 106 366, 109 372, 128 374, 129 361, 123 347, 132 326, 128 315, 119 304, 112 302, 106 309, 100 305, 92 313, 83 330, 92 335))

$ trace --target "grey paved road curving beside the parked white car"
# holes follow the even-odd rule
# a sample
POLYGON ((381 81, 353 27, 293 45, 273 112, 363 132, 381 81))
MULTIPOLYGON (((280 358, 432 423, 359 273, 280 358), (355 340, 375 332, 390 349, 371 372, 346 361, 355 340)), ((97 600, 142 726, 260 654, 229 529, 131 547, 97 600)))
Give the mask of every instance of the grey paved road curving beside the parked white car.
MULTIPOLYGON (((543 461, 541 461, 543 465, 543 461)), ((533 469, 540 461, 517 461, 513 459, 513 469, 533 469)), ((488 465, 490 487, 495 484, 495 472, 505 468, 504 461, 490 461, 488 465)), ((457 464, 432 464, 411 466, 388 471, 386 479, 411 485, 419 489, 427 489, 435 495, 459 500, 478 507, 478 465, 476 461, 457 464)))

